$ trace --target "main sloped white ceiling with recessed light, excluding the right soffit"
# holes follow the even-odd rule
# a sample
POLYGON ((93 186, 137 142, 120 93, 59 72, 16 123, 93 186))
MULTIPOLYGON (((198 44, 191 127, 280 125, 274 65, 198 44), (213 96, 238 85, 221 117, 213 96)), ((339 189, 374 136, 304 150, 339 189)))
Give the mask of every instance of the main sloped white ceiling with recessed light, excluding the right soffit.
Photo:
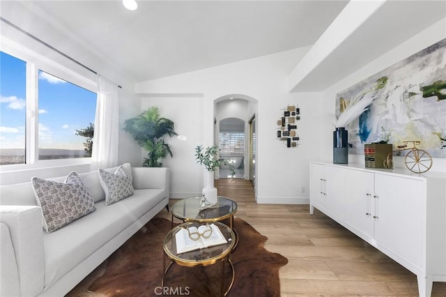
POLYGON ((0 11, 86 66, 141 82, 312 45, 348 1, 138 3, 1 0, 0 11))

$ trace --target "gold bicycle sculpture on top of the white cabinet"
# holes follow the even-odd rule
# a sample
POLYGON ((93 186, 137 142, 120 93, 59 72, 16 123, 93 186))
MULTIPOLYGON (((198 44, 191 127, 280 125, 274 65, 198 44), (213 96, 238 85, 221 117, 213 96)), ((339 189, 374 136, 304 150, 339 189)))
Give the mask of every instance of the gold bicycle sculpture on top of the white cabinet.
POLYGON ((398 146, 397 151, 392 151, 387 155, 387 158, 384 160, 384 168, 392 169, 393 168, 393 160, 392 154, 401 152, 401 151, 409 151, 404 157, 404 163, 406 163, 406 167, 415 173, 423 173, 431 169, 432 167, 432 157, 426 151, 423 151, 420 148, 417 148, 417 145, 421 144, 420 141, 417 140, 408 140, 403 142, 403 145, 398 146), (412 147, 408 147, 408 144, 411 144, 412 147))

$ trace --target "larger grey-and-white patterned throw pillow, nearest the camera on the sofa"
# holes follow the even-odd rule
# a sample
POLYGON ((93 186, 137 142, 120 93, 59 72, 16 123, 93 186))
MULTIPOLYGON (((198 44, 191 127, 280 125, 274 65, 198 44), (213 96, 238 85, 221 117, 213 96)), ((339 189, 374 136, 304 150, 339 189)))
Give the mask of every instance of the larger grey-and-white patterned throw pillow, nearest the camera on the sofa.
POLYGON ((65 183, 33 177, 31 185, 42 208, 43 228, 47 232, 95 210, 93 197, 76 172, 68 174, 65 183))

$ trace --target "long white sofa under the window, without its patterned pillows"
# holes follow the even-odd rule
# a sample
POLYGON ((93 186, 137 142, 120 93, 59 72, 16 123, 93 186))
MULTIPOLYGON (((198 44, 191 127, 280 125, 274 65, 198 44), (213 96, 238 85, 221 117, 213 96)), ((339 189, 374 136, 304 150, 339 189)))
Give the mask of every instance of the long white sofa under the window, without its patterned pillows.
POLYGON ((169 169, 124 167, 132 172, 133 195, 106 206, 98 172, 79 174, 95 211, 52 233, 43 229, 31 182, 0 187, 0 296, 67 294, 168 205, 169 169))

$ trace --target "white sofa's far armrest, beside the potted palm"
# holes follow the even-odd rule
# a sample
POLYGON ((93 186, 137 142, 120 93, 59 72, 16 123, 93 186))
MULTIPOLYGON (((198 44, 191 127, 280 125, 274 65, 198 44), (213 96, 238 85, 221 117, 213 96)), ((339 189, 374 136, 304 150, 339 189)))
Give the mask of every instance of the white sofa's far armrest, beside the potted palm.
POLYGON ((166 167, 132 167, 133 188, 164 189, 166 198, 170 191, 170 169, 166 167))

